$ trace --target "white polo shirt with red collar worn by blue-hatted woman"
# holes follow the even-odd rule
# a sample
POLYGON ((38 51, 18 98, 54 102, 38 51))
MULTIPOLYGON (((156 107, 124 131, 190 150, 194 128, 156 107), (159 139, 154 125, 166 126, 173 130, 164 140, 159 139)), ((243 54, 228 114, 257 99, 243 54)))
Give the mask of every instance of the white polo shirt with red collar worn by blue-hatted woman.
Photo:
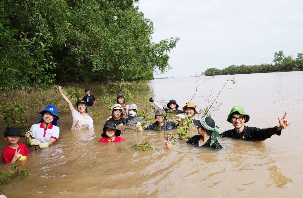
POLYGON ((49 141, 51 138, 54 138, 56 141, 59 138, 59 127, 54 126, 52 123, 48 128, 44 128, 43 122, 40 124, 34 124, 31 127, 31 131, 33 132, 33 136, 35 139, 39 140, 39 142, 44 143, 49 141))

